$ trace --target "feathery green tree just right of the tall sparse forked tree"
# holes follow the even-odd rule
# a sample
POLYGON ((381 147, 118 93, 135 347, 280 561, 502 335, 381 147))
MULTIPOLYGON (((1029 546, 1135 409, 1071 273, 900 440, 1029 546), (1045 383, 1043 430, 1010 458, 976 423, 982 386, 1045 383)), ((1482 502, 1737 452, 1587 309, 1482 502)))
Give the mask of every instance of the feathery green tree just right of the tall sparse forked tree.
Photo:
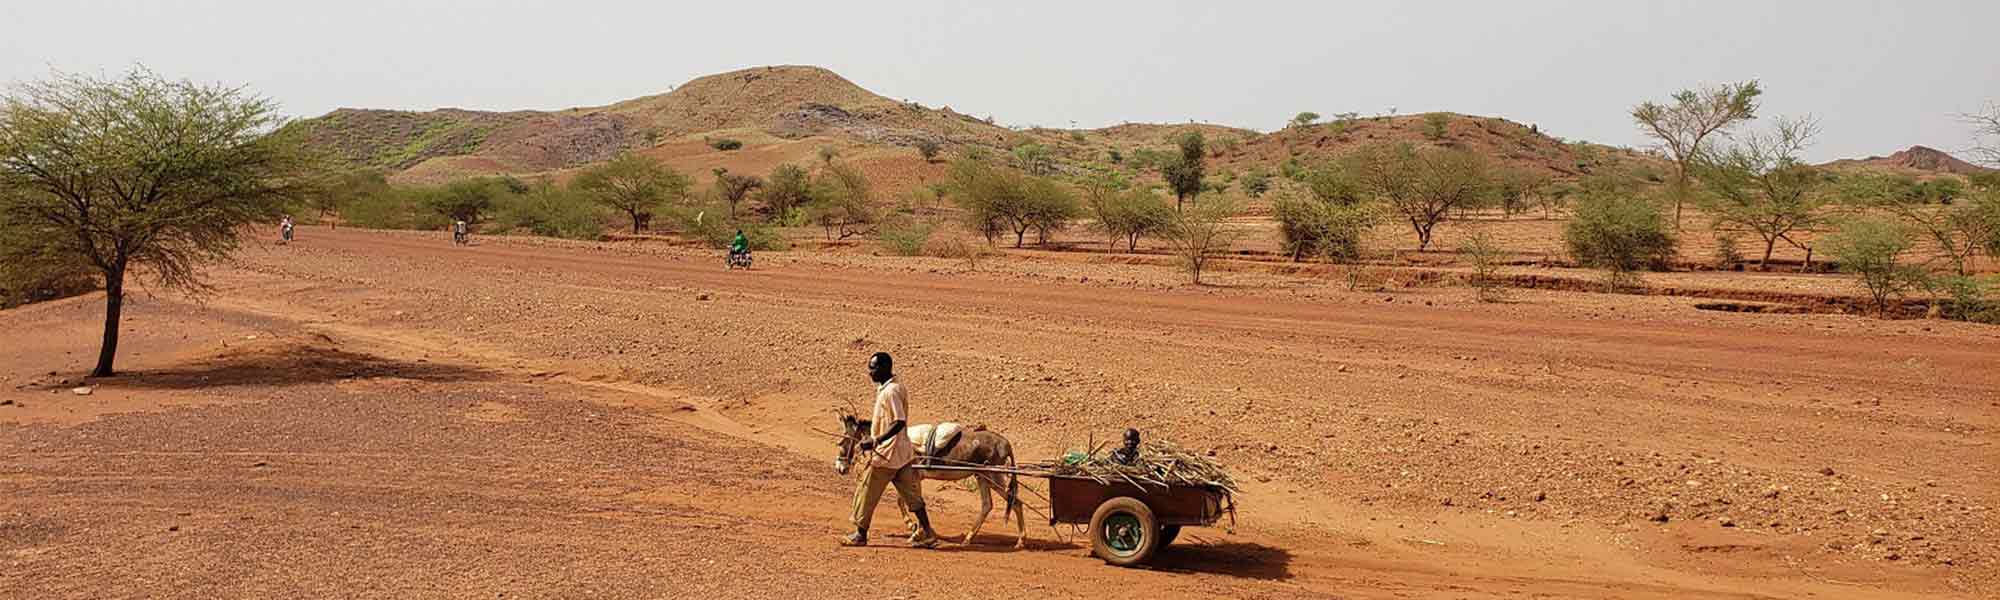
POLYGON ((1794 236, 1820 224, 1820 210, 1830 200, 1822 194, 1826 182, 1816 168, 1800 158, 1818 124, 1810 118, 1782 118, 1768 134, 1752 134, 1742 144, 1708 152, 1694 160, 1694 174, 1708 188, 1702 208, 1716 228, 1746 228, 1764 242, 1758 268, 1770 266, 1778 242, 1806 250, 1812 246, 1794 236))

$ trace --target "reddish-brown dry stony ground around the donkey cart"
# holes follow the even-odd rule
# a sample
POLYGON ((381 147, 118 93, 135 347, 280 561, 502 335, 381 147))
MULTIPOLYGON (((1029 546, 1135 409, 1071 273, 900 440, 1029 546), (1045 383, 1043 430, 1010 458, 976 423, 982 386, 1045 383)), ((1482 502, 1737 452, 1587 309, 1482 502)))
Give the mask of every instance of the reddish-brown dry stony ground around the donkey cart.
MULTIPOLYGON (((1144 264, 302 230, 194 304, 0 312, 0 598, 1992 598, 2000 330, 1144 264), (1214 448, 1152 570, 834 546, 832 406, 1214 448)), ((932 484, 944 534, 972 494, 932 484)), ((1032 496, 1030 496, 1032 498, 1032 496)), ((884 510, 882 530, 894 530, 884 510)))

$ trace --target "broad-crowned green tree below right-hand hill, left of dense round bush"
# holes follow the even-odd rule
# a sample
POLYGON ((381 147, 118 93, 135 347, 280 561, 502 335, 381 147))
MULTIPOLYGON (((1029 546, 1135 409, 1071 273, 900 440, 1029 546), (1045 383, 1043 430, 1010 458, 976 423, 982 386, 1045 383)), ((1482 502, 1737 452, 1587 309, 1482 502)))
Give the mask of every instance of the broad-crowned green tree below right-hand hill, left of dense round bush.
POLYGON ((1452 212, 1484 206, 1498 188, 1492 164, 1462 148, 1372 144, 1348 160, 1354 184, 1410 224, 1416 250, 1430 248, 1432 230, 1452 212))

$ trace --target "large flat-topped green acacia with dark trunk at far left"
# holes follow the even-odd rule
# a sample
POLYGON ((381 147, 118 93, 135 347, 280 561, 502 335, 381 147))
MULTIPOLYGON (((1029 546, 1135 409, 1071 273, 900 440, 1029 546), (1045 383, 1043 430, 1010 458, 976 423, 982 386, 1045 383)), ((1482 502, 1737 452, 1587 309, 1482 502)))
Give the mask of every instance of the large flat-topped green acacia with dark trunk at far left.
POLYGON ((0 248, 34 246, 104 276, 92 376, 114 372, 128 274, 206 292, 200 266, 236 250, 242 226, 304 200, 316 170, 304 132, 280 128, 278 104, 244 88, 136 68, 56 74, 4 102, 0 248))

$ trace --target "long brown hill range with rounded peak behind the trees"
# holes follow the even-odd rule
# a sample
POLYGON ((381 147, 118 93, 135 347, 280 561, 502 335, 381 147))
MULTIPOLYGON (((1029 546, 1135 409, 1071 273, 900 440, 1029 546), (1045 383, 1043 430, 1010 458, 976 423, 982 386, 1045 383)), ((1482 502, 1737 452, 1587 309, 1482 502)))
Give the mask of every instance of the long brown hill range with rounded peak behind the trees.
POLYGON ((1368 142, 1460 146, 1506 164, 1578 176, 1592 166, 1650 156, 1594 144, 1566 144, 1502 118, 1448 114, 1446 136, 1424 136, 1424 116, 1358 118, 1280 132, 1216 124, 1120 124, 1098 130, 1014 130, 950 106, 892 100, 818 66, 760 66, 694 78, 664 94, 568 110, 430 112, 342 108, 302 120, 308 138, 354 166, 396 180, 436 182, 482 174, 556 174, 632 150, 698 178, 714 168, 766 172, 812 162, 836 148, 894 192, 944 176, 916 156, 920 140, 948 152, 1006 154, 1022 144, 1048 148, 1056 166, 1108 166, 1112 154, 1166 152, 1184 132, 1208 138, 1218 170, 1276 170, 1286 160, 1324 160, 1368 142), (714 140, 742 142, 716 150, 714 140))

